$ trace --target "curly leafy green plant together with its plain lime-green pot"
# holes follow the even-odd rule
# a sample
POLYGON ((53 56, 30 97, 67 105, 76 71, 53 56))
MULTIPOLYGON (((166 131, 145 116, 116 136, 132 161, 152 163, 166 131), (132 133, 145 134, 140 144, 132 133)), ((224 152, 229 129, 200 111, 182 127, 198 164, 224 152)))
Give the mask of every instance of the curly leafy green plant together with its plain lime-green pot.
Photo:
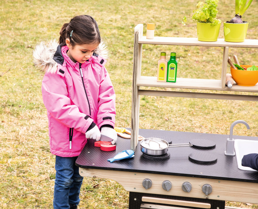
MULTIPOLYGON (((199 1, 197 9, 193 10, 191 19, 197 22, 198 41, 215 42, 219 36, 221 20, 216 18, 219 0, 199 1)), ((188 18, 190 19, 190 18, 188 18)), ((187 18, 184 16, 182 24, 185 25, 187 18)))

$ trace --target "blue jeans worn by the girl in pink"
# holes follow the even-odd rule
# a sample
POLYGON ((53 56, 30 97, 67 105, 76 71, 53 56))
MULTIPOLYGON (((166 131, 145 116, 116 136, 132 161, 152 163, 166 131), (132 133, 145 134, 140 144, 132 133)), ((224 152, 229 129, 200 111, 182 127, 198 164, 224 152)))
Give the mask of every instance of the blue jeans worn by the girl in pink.
POLYGON ((75 165, 77 157, 56 156, 56 180, 54 187, 54 209, 69 209, 78 205, 83 177, 75 165))

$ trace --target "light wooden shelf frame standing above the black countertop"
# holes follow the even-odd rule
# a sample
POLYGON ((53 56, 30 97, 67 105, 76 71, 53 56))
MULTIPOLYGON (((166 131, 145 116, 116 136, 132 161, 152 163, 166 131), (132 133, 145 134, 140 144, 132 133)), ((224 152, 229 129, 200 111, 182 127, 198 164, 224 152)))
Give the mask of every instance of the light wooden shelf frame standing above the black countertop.
POLYGON ((181 89, 258 92, 258 85, 247 87, 247 86, 239 86, 235 84, 233 85, 232 88, 228 88, 225 86, 229 47, 258 48, 258 40, 245 39, 244 42, 235 43, 235 42, 225 42, 224 39, 218 39, 218 41, 216 42, 201 42, 201 41, 198 41, 197 38, 180 38, 180 37, 154 37, 154 39, 146 39, 146 36, 143 36, 143 24, 138 24, 134 28, 133 90, 132 90, 132 120, 131 120, 131 136, 133 136, 131 140, 132 150, 135 150, 138 144, 139 109, 140 109, 139 96, 140 95, 258 101, 258 96, 256 95, 141 90, 141 86, 144 86, 144 87, 167 87, 167 88, 174 88, 174 89, 181 88, 181 89), (171 82, 157 82, 156 77, 141 76, 142 44, 223 47, 221 79, 213 80, 213 79, 176 78, 176 83, 171 83, 171 82))

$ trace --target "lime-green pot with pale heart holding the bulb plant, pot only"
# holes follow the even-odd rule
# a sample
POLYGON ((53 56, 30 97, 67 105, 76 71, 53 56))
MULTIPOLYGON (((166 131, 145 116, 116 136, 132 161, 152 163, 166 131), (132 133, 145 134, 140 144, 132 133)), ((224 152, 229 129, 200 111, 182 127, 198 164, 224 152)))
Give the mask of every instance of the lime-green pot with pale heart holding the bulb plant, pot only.
POLYGON ((244 42, 247 33, 248 22, 228 23, 224 22, 224 40, 226 42, 244 42))

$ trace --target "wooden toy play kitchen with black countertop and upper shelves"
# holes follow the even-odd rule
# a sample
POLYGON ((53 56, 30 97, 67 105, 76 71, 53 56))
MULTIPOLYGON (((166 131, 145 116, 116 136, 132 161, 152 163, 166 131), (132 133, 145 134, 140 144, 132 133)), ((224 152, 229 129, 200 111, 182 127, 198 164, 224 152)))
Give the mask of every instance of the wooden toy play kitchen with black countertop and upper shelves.
POLYGON ((225 135, 139 129, 139 95, 258 101, 258 96, 255 95, 258 92, 257 85, 234 84, 231 88, 225 85, 229 47, 258 48, 258 40, 246 39, 244 42, 234 43, 225 42, 224 39, 218 39, 217 42, 177 37, 146 39, 143 36, 143 25, 137 25, 134 30, 131 139, 119 136, 116 150, 109 152, 94 147, 94 140, 89 140, 76 160, 80 174, 119 182, 129 191, 130 209, 224 209, 225 201, 258 204, 258 172, 239 168, 237 160, 239 155, 246 154, 246 146, 252 147, 251 151, 258 150, 254 149, 258 147, 258 139, 233 135, 234 126, 246 122, 239 120, 229 124, 230 133, 225 135), (175 83, 171 83, 157 82, 156 77, 141 76, 142 44, 223 47, 221 80, 177 78, 175 83), (167 87, 173 88, 173 91, 141 90, 141 86, 167 87), (176 91, 178 88, 211 92, 216 90, 216 93, 180 92, 176 91), (217 93, 217 90, 228 93, 217 93), (230 94, 231 91, 242 93, 230 94), (147 144, 143 143, 141 146, 142 141, 138 143, 139 135, 147 139, 142 140, 147 141, 147 144), (152 141, 148 142, 148 138, 152 138, 152 141), (153 142, 153 138, 161 140, 157 143, 153 142), (192 146, 166 148, 170 144, 182 143, 192 146), (148 145, 151 147, 147 147, 148 145), (164 148, 163 145, 166 151, 162 155, 150 155, 142 149, 159 150, 164 148), (112 163, 108 161, 123 150, 133 150, 134 157, 112 163))

